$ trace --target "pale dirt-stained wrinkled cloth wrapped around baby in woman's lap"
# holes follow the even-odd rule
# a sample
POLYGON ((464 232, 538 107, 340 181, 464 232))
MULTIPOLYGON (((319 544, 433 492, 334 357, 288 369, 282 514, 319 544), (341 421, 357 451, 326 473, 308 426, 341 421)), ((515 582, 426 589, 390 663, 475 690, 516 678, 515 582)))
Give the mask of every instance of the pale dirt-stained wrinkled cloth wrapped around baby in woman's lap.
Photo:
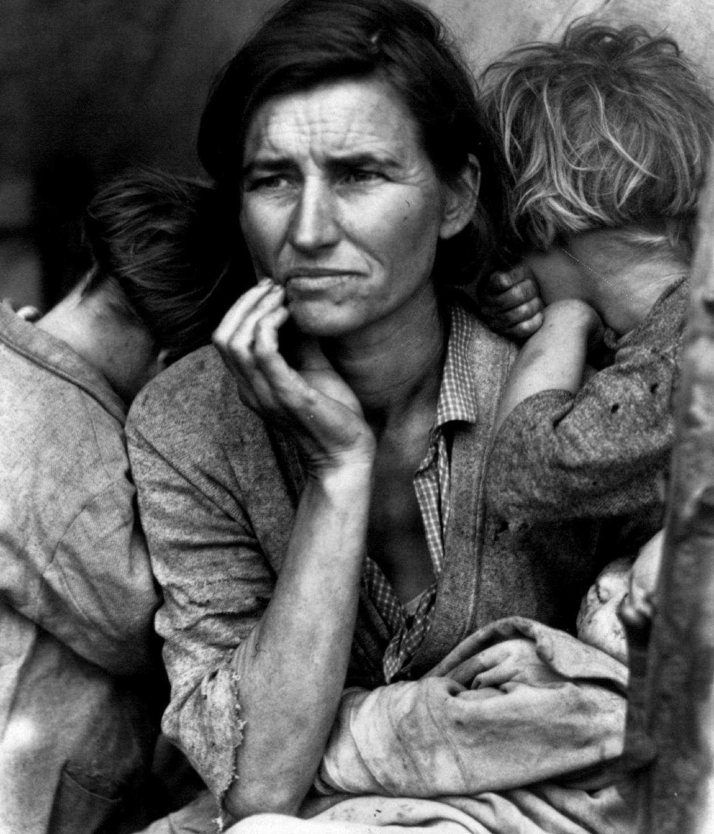
MULTIPOLYGON (((469 796, 587 772, 601 786, 622 751, 627 669, 532 620, 497 620, 420 681, 345 693, 324 751, 322 792, 469 796), (523 679, 484 697, 473 660, 510 638, 534 641, 558 682, 523 679)), ((493 690, 490 690, 493 692, 493 690)), ((585 778, 585 777, 583 777, 585 778)))

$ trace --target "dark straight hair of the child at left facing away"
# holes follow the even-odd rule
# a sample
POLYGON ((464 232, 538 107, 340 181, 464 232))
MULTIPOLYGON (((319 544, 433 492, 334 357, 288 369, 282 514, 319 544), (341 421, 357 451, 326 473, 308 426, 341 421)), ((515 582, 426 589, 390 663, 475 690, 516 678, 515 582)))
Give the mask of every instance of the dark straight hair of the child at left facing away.
MULTIPOLYGON (((108 290, 114 309, 143 324, 170 359, 208 344, 252 279, 229 254, 240 237, 215 188, 158 171, 113 180, 89 203, 83 295, 108 290)), ((241 264, 243 264, 241 266, 241 264)))

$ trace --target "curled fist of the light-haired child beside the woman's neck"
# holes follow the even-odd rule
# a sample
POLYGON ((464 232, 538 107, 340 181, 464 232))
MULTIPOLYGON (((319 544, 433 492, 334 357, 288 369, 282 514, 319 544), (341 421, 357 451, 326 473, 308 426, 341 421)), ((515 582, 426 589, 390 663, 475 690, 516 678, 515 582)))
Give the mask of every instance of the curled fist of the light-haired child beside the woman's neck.
POLYGON ((480 310, 490 329, 511 339, 528 339, 543 323, 536 276, 526 264, 495 272, 480 282, 480 310))

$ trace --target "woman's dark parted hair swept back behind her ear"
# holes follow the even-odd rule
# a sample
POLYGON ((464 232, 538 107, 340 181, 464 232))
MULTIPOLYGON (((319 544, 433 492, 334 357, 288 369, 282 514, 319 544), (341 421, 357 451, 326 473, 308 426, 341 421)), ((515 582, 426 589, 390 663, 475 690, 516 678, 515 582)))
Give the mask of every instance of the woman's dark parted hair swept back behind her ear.
POLYGON ((249 38, 214 83, 199 129, 199 157, 219 188, 239 195, 244 140, 269 98, 344 78, 390 83, 409 108, 441 180, 481 166, 474 222, 440 241, 440 282, 488 269, 502 218, 500 160, 474 79, 440 20, 410 0, 288 0, 249 38))

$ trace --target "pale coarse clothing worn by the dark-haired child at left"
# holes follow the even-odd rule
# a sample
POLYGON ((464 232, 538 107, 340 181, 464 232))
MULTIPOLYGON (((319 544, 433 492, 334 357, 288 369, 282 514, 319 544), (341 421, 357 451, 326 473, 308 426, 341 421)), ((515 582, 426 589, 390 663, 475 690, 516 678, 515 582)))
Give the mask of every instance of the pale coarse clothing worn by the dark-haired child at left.
POLYGON ((165 685, 124 418, 96 370, 0 306, 3 834, 93 834, 139 804, 165 685))

